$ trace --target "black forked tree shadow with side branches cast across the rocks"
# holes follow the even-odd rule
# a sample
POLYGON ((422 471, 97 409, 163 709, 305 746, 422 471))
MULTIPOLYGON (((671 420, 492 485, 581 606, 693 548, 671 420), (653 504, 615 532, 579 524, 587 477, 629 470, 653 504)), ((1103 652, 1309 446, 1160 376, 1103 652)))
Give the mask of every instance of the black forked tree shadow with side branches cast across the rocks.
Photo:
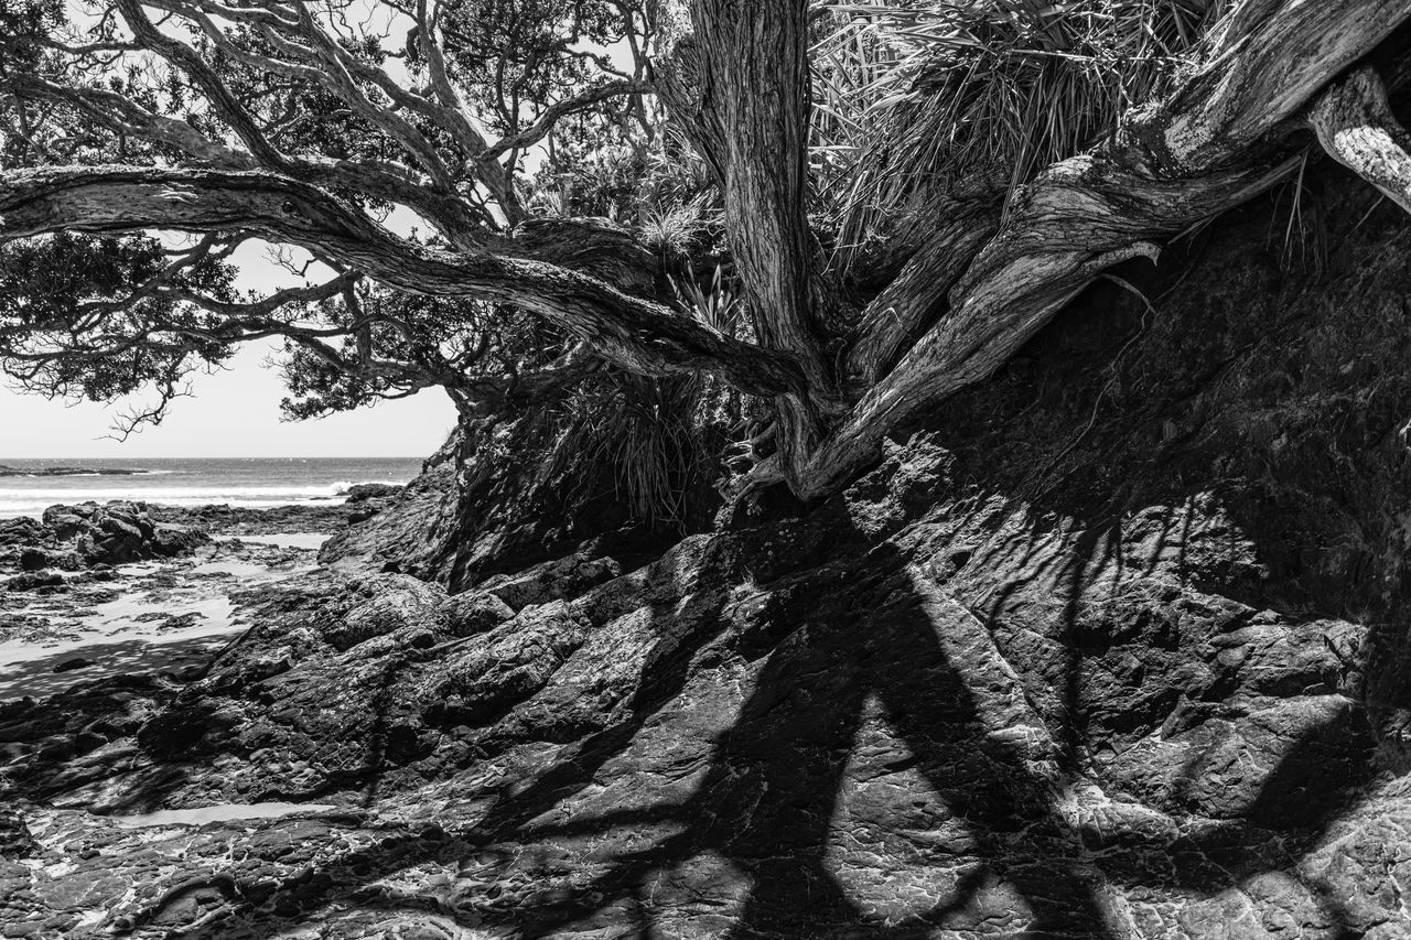
MULTIPOLYGON (((753 646, 766 659, 752 692, 684 800, 543 821, 547 810, 564 807, 587 789, 646 721, 680 694, 704 644, 721 637, 737 648, 749 642, 732 637, 720 622, 722 611, 711 605, 693 611, 694 632, 673 638, 670 648, 648 658, 649 680, 619 723, 587 737, 528 788, 505 793, 473 828, 452 831, 452 838, 433 845, 411 836, 389 838, 356 860, 356 867, 330 867, 333 876, 317 902, 419 909, 429 902, 377 898, 363 885, 415 864, 450 864, 487 851, 508 855, 516 845, 540 840, 610 837, 672 821, 679 831, 617 854, 587 884, 512 910, 452 916, 467 926, 509 927, 523 937, 549 936, 594 916, 626 916, 626 908, 632 919, 649 923, 650 905, 642 899, 652 895, 662 872, 713 854, 749 881, 731 936, 921 937, 938 927, 974 926, 974 905, 996 884, 1006 884, 1017 898, 1007 913, 1010 936, 1102 939, 1120 936, 1105 922, 1098 896, 1105 881, 1218 893, 1270 865, 1287 868, 1297 861, 1294 847, 1311 845, 1340 807, 1336 800, 1305 796, 1311 806, 1304 816, 1278 810, 1297 795, 1295 782, 1308 779, 1307 762, 1324 754, 1319 735, 1340 733, 1319 727, 1268 776, 1249 807, 1250 824, 1175 843, 1137 837, 1120 851, 1094 852, 1088 833, 1067 821, 1057 806, 1064 779, 1060 765, 1070 759, 1067 742, 1036 745, 1033 738, 1043 737, 1037 718, 1034 735, 1015 740, 995 714, 996 701, 976 699, 976 689, 988 683, 993 693, 1006 676, 1002 670, 971 675, 976 662, 986 661, 983 651, 975 658, 976 645, 991 641, 965 607, 889 545, 858 565, 814 572, 800 586, 799 605, 776 611, 780 622, 769 628, 769 642, 753 646), (866 573, 861 583, 859 570, 866 573), (854 577, 840 579, 845 573, 854 577), (967 651, 961 662, 952 653, 957 642, 967 651), (847 810, 840 793, 859 734, 868 730, 869 703, 876 703, 900 745, 888 772, 920 775, 934 795, 926 821, 948 826, 974 858, 948 889, 937 889, 941 896, 934 903, 900 913, 886 910, 885 903, 879 908, 876 898, 856 900, 840 879, 837 860, 830 858, 837 851, 832 833, 840 812, 847 810), (1270 830, 1288 845, 1284 858, 1271 858, 1263 848, 1270 831, 1261 826, 1273 823, 1284 823, 1270 830)), ((993 662, 999 662, 998 652, 993 662)), ((1013 685, 1017 692, 1017 679, 1013 685)), ((277 892, 272 909, 291 910, 278 902, 295 896, 308 909, 308 895, 306 884, 288 885, 277 892)), ((1325 900, 1333 919, 1340 916, 1335 908, 1325 900)), ((192 936, 233 937, 258 923, 272 929, 282 919, 250 910, 238 930, 212 924, 192 936)))

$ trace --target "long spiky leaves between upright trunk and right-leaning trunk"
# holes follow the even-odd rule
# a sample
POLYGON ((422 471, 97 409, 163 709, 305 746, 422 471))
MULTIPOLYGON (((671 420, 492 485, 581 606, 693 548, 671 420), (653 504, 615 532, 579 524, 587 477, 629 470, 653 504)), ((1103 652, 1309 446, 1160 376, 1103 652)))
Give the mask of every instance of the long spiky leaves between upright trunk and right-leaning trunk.
MULTIPOLYGON (((995 198, 1165 93, 1225 0, 837 3, 813 161, 851 267, 948 199, 995 198)), ((904 233, 903 233, 904 237, 904 233)))

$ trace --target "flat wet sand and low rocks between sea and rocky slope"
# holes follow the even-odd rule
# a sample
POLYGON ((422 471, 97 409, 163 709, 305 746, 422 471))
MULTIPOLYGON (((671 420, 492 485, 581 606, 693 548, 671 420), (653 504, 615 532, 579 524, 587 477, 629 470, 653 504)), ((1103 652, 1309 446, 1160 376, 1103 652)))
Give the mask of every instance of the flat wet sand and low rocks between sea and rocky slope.
POLYGON ((316 570, 350 517, 392 495, 270 508, 59 504, 40 519, 0 519, 0 706, 123 676, 189 682, 248 629, 237 596, 316 570), (126 541, 96 541, 109 532, 126 541))

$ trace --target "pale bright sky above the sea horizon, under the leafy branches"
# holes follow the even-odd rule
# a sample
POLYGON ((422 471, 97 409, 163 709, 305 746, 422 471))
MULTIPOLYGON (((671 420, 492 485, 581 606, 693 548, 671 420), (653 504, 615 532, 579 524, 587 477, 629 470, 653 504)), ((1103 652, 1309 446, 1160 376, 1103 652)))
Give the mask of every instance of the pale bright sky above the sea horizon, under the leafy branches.
MULTIPOLYGON (((233 258, 241 288, 274 289, 291 275, 261 246, 247 244, 233 258)), ((319 272, 310 271, 312 277, 319 272)), ((450 433, 456 409, 430 388, 412 398, 312 421, 282 421, 288 394, 278 368, 265 360, 279 343, 253 343, 219 373, 192 378, 192 398, 171 404, 161 425, 113 440, 124 406, 48 401, 0 385, 0 463, 34 457, 425 457, 450 433)))

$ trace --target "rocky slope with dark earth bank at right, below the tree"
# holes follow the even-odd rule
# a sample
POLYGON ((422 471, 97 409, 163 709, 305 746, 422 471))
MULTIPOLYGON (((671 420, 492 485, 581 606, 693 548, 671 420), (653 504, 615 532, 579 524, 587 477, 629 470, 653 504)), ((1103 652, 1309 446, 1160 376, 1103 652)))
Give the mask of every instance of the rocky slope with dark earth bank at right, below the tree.
POLYGON ((821 505, 646 565, 461 497, 418 567, 374 542, 444 507, 387 511, 109 744, 41 747, 111 690, 0 716, 11 796, 358 807, 51 881, 212 937, 1407 936, 1411 226, 1305 186, 1318 236, 1115 272, 821 505))

